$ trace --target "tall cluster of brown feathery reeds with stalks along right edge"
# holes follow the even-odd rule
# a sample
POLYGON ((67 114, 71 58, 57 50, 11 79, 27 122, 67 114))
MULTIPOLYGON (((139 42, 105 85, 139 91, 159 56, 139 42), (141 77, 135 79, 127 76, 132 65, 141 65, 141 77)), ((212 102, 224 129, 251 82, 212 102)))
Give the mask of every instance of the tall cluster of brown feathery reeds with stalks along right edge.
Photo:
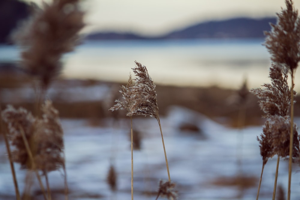
POLYGON ((296 95, 294 74, 300 61, 300 17, 291 0, 286 0, 285 3, 286 9, 277 13, 277 24, 271 24, 271 31, 265 32, 264 45, 270 52, 272 61, 269 72, 271 84, 264 84, 263 89, 251 90, 259 98, 259 106, 266 118, 263 133, 257 137, 263 163, 256 199, 259 196, 264 166, 269 158, 277 155, 273 200, 276 194, 280 157, 289 159, 287 193, 289 200, 292 162, 300 155, 298 128, 293 123, 293 105, 296 95), (291 79, 290 86, 288 75, 291 79))

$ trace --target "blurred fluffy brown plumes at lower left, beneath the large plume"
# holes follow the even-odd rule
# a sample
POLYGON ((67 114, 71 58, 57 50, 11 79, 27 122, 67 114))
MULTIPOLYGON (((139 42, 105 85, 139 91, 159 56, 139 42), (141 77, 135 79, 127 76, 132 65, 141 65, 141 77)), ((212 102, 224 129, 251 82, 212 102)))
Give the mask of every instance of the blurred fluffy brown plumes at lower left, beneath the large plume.
MULTIPOLYGON (((48 199, 51 199, 47 174, 60 168, 65 171, 63 130, 51 101, 44 103, 42 112, 42 118, 35 118, 27 110, 9 105, 2 112, 2 118, 8 124, 9 140, 14 146, 13 161, 20 163, 22 169, 40 170, 46 178, 48 199)), ((42 184, 41 188, 43 190, 42 184)))

